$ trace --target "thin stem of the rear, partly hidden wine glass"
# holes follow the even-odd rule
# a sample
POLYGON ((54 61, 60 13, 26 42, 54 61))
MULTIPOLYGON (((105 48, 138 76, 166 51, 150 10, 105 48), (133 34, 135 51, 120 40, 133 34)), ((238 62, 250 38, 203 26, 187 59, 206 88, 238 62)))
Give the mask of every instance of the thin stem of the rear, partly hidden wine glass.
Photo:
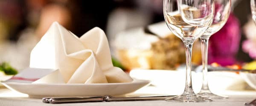
POLYGON ((209 91, 208 87, 208 67, 207 67, 207 57, 208 57, 208 41, 209 37, 201 37, 201 49, 202 49, 202 65, 203 65, 203 85, 202 85, 202 92, 209 91))

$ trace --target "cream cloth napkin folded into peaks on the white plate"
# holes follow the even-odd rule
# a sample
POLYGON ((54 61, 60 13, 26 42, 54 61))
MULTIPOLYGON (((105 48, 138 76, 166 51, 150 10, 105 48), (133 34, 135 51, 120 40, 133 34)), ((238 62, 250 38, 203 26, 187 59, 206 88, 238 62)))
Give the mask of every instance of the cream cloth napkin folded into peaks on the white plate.
POLYGON ((30 55, 31 68, 55 69, 34 83, 121 83, 133 79, 113 67, 104 31, 76 35, 54 22, 30 55))

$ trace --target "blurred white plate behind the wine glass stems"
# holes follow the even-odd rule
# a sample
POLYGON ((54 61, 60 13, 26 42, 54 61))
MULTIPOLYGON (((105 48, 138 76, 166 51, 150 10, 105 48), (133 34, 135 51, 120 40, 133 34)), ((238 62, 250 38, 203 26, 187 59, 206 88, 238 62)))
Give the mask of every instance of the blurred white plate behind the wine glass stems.
MULTIPOLYGON (((202 73, 192 71, 192 86, 196 93, 201 90, 203 83, 202 73)), ((185 88, 185 71, 175 70, 131 70, 132 78, 150 80, 151 84, 172 94, 181 94, 185 88)), ((226 90, 243 90, 246 82, 239 74, 233 72, 209 72, 209 89, 214 93, 226 90)), ((167 92, 166 92, 167 93, 167 92)))

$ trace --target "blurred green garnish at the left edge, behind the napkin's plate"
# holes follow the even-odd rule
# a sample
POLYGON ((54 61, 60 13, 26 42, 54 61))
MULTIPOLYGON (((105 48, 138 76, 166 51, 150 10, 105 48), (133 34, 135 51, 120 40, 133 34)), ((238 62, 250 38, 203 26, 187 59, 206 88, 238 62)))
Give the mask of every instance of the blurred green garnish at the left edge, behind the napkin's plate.
POLYGON ((18 73, 16 69, 6 62, 0 64, 0 71, 3 71, 6 75, 16 75, 18 73))

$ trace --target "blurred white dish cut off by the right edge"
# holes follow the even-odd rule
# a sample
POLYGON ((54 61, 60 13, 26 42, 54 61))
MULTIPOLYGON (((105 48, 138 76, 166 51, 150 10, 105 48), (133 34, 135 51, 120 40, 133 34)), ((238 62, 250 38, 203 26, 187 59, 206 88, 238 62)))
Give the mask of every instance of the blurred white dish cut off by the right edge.
POLYGON ((244 81, 246 81, 249 86, 256 89, 256 74, 241 72, 240 75, 242 78, 244 78, 244 81))

